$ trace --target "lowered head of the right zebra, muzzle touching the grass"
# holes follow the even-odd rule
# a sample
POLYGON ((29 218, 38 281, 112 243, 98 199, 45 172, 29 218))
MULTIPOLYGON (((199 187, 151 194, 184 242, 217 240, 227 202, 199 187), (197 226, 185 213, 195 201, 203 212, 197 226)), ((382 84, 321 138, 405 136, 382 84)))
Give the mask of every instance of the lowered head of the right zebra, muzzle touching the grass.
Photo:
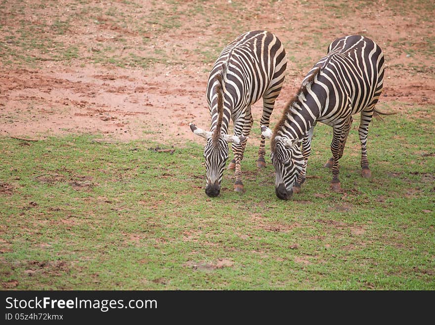
MULTIPOLYGON (((272 131, 261 126, 261 134, 265 138, 272 137, 272 131)), ((287 200, 293 195, 293 185, 304 166, 304 156, 299 146, 299 139, 275 136, 271 142, 270 158, 275 168, 275 194, 287 200)))

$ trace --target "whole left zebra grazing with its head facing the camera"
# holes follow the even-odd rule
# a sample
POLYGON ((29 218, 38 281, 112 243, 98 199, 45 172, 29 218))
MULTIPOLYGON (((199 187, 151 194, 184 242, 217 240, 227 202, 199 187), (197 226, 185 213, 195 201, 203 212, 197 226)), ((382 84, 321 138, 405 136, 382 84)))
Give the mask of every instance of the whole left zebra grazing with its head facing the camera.
MULTIPOLYGON (((212 117, 210 131, 190 123, 192 132, 206 139, 206 194, 220 192, 223 170, 232 142, 234 159, 228 169, 235 169, 234 190, 243 192, 240 162, 254 119, 251 105, 263 98, 261 125, 269 125, 275 99, 284 82, 286 53, 281 41, 267 31, 251 31, 237 37, 220 53, 209 76, 207 102, 212 117), (228 135, 230 118, 234 136, 228 135)), ((258 167, 265 166, 265 138, 261 136, 258 167)))

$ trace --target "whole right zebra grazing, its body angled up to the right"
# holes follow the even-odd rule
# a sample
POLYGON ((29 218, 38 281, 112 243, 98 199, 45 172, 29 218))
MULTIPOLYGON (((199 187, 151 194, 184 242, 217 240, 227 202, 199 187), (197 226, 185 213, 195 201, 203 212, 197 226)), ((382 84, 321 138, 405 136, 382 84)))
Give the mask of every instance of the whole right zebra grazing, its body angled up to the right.
POLYGON ((339 38, 305 76, 296 96, 287 104, 283 116, 272 131, 261 126, 261 133, 271 139, 271 159, 275 167, 275 193, 288 199, 305 181, 311 151, 313 129, 317 122, 333 127, 333 190, 340 190, 339 159, 343 155, 352 115, 361 112, 361 175, 371 177, 367 159, 368 125, 382 92, 384 54, 372 40, 359 35, 339 38), (302 148, 301 148, 302 142, 302 148))

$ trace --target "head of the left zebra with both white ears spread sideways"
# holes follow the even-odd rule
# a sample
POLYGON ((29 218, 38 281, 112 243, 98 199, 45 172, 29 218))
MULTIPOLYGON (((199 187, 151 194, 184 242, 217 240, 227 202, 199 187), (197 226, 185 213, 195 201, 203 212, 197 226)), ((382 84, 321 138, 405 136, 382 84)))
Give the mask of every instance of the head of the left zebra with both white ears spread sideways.
POLYGON ((226 160, 228 159, 228 143, 241 143, 248 137, 229 136, 227 134, 217 135, 217 131, 204 131, 190 123, 190 130, 201 138, 207 140, 204 146, 204 158, 206 160, 207 183, 206 194, 215 197, 220 193, 220 184, 226 160))

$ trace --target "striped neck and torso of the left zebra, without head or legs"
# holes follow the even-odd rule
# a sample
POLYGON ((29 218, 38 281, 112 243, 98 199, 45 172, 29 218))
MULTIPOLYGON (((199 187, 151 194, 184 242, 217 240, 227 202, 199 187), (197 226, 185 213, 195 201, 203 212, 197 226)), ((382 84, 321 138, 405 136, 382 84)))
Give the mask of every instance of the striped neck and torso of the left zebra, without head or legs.
POLYGON ((225 46, 207 84, 207 102, 212 113, 211 130, 216 128, 218 120, 216 76, 222 75, 222 133, 225 133, 231 115, 243 114, 243 109, 259 100, 273 83, 282 83, 286 65, 284 46, 267 31, 244 33, 225 46), (280 80, 274 80, 277 72, 280 72, 280 80))

